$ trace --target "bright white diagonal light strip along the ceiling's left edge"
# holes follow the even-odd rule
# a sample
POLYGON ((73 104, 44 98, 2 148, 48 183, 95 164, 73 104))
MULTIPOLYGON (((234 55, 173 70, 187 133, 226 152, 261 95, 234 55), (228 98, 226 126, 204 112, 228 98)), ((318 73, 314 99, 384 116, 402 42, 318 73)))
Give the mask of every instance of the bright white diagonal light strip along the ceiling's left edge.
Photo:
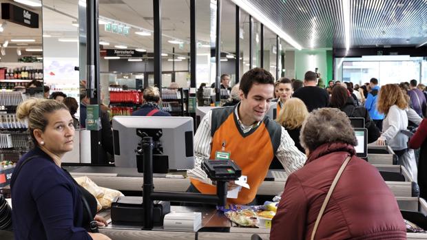
POLYGON ((302 46, 297 41, 295 41, 291 36, 289 36, 289 34, 287 34, 281 28, 279 28, 278 25, 273 23, 269 18, 264 16, 264 14, 260 13, 260 10, 258 10, 256 6, 253 6, 252 3, 249 3, 249 1, 247 0, 231 0, 231 1, 233 1, 233 3, 235 3, 237 6, 242 8, 242 10, 244 10, 248 14, 251 14, 252 17, 258 20, 260 23, 264 24, 264 26, 269 28, 275 34, 278 34, 280 38, 282 38, 284 41, 286 41, 296 49, 302 50, 302 46))

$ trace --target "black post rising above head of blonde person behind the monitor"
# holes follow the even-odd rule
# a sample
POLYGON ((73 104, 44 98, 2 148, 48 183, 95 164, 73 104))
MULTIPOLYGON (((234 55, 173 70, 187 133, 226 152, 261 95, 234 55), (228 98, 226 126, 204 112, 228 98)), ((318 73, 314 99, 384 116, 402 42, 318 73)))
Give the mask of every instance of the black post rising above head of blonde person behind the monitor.
POLYGON ((153 0, 154 16, 154 85, 160 89, 162 94, 162 25, 160 0, 153 0))

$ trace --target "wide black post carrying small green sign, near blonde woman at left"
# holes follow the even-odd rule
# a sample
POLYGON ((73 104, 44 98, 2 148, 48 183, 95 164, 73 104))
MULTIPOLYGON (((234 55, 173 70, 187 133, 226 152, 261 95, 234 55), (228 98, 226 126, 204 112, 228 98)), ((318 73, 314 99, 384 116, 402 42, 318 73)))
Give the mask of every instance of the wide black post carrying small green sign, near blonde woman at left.
MULTIPOLYGON (((99 94, 99 29, 98 29, 98 0, 86 0, 86 27, 87 27, 87 54, 86 54, 86 91, 87 98, 90 98, 91 105, 98 105, 101 102, 99 94)), ((98 109, 98 116, 101 118, 101 108, 98 109)), ((101 121, 100 121, 101 122, 101 121)), ((103 164, 107 160, 101 160, 101 130, 90 131, 91 163, 103 164)))

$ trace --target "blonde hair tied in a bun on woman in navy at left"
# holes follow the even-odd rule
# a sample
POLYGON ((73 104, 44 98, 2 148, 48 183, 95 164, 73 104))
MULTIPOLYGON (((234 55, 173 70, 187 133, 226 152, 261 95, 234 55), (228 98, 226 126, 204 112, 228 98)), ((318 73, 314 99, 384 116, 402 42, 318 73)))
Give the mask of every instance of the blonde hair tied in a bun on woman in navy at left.
POLYGON ((28 131, 34 144, 37 144, 33 131, 40 129, 44 132, 49 124, 46 113, 53 113, 61 109, 69 111, 63 102, 53 99, 28 98, 18 106, 17 118, 20 121, 28 120, 28 131))

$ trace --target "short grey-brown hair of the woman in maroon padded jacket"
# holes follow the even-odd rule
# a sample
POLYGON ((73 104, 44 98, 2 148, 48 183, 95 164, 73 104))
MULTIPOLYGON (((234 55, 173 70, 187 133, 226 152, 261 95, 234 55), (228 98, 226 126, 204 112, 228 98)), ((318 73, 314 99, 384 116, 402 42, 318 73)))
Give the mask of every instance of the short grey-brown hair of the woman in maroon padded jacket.
POLYGON ((316 109, 302 123, 300 143, 304 149, 314 151, 329 142, 357 145, 357 139, 346 113, 335 108, 316 109))

